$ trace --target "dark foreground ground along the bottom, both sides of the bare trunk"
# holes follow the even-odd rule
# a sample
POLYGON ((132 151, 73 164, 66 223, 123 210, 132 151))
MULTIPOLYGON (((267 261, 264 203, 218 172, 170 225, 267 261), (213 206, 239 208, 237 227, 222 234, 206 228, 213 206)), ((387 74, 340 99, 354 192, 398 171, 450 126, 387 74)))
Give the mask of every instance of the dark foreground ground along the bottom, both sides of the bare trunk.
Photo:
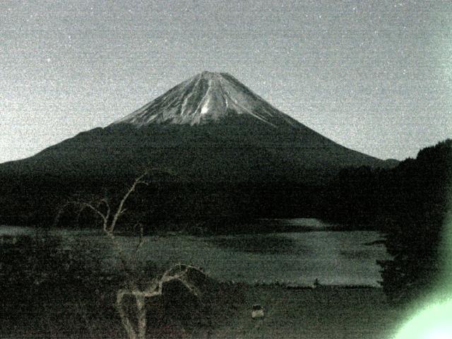
MULTIPOLYGON (((187 326, 165 304, 148 305, 148 338, 391 338, 401 312, 388 306, 379 288, 220 284, 208 313, 187 326), (263 319, 251 319, 261 304, 263 319), (165 314, 165 316, 163 316, 165 314), (163 318, 165 317, 165 320, 163 318)), ((126 338, 113 307, 80 302, 37 305, 22 316, 2 320, 1 338, 126 338)))

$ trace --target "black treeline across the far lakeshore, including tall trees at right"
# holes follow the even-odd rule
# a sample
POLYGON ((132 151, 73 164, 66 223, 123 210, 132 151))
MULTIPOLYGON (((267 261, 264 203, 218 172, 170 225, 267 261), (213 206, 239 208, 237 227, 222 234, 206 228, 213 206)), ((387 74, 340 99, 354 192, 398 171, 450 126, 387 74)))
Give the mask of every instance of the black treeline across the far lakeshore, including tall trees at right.
MULTIPOLYGON (((255 218, 311 217, 343 222, 348 229, 380 230, 386 233, 386 247, 394 257, 380 263, 383 287, 393 301, 401 301, 428 287, 439 270, 437 250, 451 177, 451 140, 424 148, 416 159, 392 169, 343 169, 326 186, 287 181, 177 182, 159 174, 134 192, 119 226, 139 221, 148 233, 260 232, 265 230, 258 225, 255 230, 240 227, 255 218)), ((108 198, 114 205, 133 179, 0 174, 0 223, 50 226, 59 208, 71 200, 108 198)), ((66 209, 59 225, 98 225, 93 213, 75 212, 66 209)))

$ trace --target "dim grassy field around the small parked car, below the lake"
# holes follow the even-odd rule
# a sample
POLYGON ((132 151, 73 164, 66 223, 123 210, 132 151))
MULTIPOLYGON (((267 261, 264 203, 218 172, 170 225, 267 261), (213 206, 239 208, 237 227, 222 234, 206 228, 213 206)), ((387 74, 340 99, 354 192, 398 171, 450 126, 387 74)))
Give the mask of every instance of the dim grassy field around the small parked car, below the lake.
POLYGON ((246 302, 214 338, 391 338, 398 311, 377 288, 321 287, 287 290, 253 287, 246 302), (251 319, 251 305, 266 309, 262 320, 251 319))

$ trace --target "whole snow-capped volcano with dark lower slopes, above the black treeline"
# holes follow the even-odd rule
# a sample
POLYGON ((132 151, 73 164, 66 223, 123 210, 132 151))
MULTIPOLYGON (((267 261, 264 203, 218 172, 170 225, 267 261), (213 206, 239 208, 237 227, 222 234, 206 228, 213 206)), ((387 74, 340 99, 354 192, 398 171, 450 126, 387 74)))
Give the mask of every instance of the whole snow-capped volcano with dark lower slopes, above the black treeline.
POLYGON ((227 73, 204 71, 105 128, 0 173, 124 177, 145 166, 181 182, 326 182, 349 166, 390 167, 280 112, 227 73))

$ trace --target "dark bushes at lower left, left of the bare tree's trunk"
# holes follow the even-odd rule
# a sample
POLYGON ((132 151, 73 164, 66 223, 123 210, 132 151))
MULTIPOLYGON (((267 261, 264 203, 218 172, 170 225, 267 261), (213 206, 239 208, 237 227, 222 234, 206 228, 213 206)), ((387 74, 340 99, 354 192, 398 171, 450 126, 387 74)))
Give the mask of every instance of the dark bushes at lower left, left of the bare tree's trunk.
POLYGON ((101 269, 100 250, 82 245, 71 249, 62 242, 47 230, 1 235, 0 322, 43 317, 43 304, 61 299, 94 306, 92 300, 105 297, 106 282, 116 277, 101 269))

